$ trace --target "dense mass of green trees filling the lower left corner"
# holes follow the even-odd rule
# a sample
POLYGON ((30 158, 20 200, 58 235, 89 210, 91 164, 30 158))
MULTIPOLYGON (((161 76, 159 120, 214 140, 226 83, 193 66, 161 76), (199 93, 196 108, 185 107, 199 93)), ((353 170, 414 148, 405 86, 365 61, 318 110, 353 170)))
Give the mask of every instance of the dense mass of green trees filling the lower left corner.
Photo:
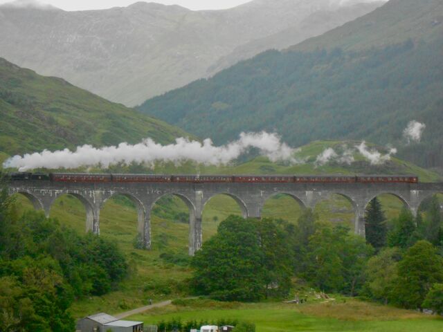
POLYGON ((109 292, 127 275, 126 259, 115 243, 16 211, 1 191, 0 331, 73 331, 73 300, 109 292))

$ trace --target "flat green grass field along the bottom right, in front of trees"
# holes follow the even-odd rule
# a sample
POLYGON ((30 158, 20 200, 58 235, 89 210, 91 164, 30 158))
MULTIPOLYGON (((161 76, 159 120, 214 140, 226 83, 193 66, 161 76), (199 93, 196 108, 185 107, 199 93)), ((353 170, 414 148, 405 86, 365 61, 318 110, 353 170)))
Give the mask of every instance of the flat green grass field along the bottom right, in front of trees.
POLYGON ((190 306, 168 306, 154 309, 129 320, 156 324, 162 320, 182 321, 235 319, 256 324, 257 332, 287 331, 376 331, 437 332, 442 331, 441 318, 423 315, 355 299, 338 298, 333 302, 309 304, 221 304, 196 300, 190 306))

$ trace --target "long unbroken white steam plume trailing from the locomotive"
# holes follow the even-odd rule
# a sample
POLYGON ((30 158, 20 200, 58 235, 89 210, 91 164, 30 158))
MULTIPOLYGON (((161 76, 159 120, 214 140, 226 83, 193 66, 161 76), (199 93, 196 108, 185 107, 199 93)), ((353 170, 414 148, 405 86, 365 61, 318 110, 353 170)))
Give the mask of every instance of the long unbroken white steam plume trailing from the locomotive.
POLYGON ((64 149, 60 151, 44 150, 41 153, 14 156, 3 164, 3 167, 18 168, 24 172, 36 168, 77 168, 98 166, 109 167, 117 163, 149 163, 156 161, 180 163, 193 160, 204 165, 226 165, 244 154, 248 149, 256 148, 262 156, 267 156, 273 162, 284 160, 296 163, 293 157, 296 149, 292 149, 275 133, 241 133, 239 140, 228 145, 215 147, 212 140, 203 143, 177 138, 171 145, 160 145, 147 138, 136 145, 120 143, 117 147, 102 147, 97 149, 91 145, 77 147, 75 151, 64 149))

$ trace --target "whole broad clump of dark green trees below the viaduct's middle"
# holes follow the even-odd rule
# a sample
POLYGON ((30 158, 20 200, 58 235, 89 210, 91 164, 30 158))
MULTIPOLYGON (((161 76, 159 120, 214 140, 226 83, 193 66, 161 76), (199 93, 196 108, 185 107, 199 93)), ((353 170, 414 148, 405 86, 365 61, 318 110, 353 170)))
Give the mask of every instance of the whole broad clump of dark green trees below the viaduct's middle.
POLYGON ((289 293, 292 252, 283 221, 229 216, 192 259, 199 294, 253 301, 289 293))

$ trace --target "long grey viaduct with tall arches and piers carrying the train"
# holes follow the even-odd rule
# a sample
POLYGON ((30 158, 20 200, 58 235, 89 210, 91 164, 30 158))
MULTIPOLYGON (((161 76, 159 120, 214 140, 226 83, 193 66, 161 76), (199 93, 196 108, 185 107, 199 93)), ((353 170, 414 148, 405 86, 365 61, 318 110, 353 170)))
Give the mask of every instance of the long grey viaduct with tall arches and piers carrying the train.
POLYGON ((189 208, 189 253, 201 248, 201 215, 204 206, 218 194, 232 197, 244 217, 260 218, 264 203, 276 194, 287 194, 304 208, 327 199, 344 196, 355 212, 355 232, 365 236, 365 208, 380 194, 397 196, 413 214, 420 203, 433 194, 443 193, 443 183, 53 183, 50 181, 12 181, 10 194, 23 194, 37 210, 49 215, 57 197, 71 194, 86 208, 86 230, 100 234, 100 209, 112 196, 122 194, 138 210, 138 232, 145 248, 151 248, 151 210, 162 196, 178 196, 189 208))

